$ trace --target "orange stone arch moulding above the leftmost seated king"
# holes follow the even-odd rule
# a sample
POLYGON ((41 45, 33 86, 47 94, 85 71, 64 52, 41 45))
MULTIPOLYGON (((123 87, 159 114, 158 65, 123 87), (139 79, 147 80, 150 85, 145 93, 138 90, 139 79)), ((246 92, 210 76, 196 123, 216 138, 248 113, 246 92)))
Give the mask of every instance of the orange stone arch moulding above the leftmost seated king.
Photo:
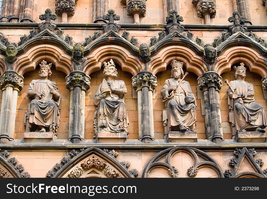
POLYGON ((69 74, 73 70, 70 56, 59 47, 49 44, 34 46, 19 56, 14 70, 23 75, 28 71, 35 70, 36 64, 42 60, 53 63, 56 70, 65 74, 69 74))

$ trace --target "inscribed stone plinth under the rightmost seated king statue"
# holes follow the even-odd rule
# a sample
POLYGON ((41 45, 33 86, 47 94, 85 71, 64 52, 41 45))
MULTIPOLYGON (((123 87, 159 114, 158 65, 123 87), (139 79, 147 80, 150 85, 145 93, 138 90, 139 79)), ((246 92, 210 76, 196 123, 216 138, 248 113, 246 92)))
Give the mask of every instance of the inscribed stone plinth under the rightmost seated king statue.
POLYGON ((266 132, 238 132, 238 142, 243 143, 264 143, 266 142, 266 132))

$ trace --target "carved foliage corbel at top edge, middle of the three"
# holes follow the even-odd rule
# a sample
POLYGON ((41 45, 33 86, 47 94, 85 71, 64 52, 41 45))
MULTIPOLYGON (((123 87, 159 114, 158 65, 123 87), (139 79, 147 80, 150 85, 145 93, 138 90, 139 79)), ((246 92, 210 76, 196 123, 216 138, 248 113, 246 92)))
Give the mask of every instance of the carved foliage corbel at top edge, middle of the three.
POLYGON ((146 16, 146 2, 144 0, 129 0, 127 2, 127 15, 134 13, 146 16))

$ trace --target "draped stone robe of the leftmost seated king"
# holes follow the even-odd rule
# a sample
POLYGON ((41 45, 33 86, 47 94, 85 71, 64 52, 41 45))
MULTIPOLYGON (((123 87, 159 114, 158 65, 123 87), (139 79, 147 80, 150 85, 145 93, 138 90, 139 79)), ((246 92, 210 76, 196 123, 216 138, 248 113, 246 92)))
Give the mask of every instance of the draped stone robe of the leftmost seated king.
POLYGON ((58 97, 54 97, 50 93, 50 88, 55 88, 58 92, 58 88, 55 82, 50 80, 32 80, 29 89, 27 91, 29 99, 29 123, 32 125, 40 125, 47 127, 49 132, 54 132, 56 135, 59 127, 59 108, 61 102, 61 96, 58 93, 58 97), (32 93, 35 91, 41 92, 42 98, 35 99, 32 93))

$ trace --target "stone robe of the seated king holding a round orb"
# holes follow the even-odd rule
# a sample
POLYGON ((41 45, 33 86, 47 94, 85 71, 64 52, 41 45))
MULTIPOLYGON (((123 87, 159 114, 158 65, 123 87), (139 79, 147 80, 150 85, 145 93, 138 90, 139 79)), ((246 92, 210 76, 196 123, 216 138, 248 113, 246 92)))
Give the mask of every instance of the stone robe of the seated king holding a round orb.
POLYGON ((162 121, 164 125, 165 134, 169 131, 177 131, 176 127, 183 124, 185 128, 194 131, 196 124, 196 100, 191 104, 186 104, 184 101, 185 96, 192 96, 194 93, 191 90, 188 81, 182 81, 176 91, 168 92, 168 88, 174 86, 172 79, 167 79, 164 83, 161 95, 165 104, 165 109, 162 113, 162 121), (175 117, 177 115, 177 117, 175 117))

